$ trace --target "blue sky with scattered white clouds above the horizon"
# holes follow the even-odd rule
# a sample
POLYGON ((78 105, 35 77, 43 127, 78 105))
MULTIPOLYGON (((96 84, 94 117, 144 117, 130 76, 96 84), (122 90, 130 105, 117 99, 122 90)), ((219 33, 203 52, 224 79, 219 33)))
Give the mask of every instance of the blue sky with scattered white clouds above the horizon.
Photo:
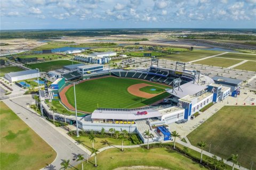
POLYGON ((1 29, 256 28, 256 0, 1 0, 1 29))

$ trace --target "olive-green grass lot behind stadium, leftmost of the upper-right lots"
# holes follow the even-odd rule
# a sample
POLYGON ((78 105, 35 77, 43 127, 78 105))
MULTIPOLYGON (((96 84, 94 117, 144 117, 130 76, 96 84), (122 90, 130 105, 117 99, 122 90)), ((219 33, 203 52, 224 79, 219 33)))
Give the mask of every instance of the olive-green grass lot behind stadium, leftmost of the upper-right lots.
POLYGON ((223 52, 210 51, 210 50, 193 50, 189 52, 175 53, 166 56, 162 56, 162 59, 172 60, 172 61, 181 61, 181 62, 190 62, 198 60, 204 57, 209 57, 212 55, 220 54, 223 52))

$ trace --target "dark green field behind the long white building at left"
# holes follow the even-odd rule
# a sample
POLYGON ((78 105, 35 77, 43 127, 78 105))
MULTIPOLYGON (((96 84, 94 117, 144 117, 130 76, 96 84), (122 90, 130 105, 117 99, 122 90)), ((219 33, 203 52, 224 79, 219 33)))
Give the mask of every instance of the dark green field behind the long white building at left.
MULTIPOLYGON (((36 63, 36 64, 26 64, 27 67, 30 69, 38 68, 40 71, 49 72, 56 69, 61 69, 64 65, 71 65, 72 61, 70 60, 58 60, 52 62, 43 62, 43 63, 36 63)), ((73 62, 73 64, 78 64, 78 62, 73 62)))

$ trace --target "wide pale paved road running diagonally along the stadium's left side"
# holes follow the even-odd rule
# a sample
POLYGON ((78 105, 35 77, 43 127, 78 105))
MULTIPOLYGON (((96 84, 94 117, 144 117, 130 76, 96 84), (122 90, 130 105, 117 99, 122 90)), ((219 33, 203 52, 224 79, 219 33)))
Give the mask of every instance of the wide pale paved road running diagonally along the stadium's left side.
POLYGON ((68 140, 61 133, 55 130, 51 125, 46 123, 41 117, 31 112, 27 107, 30 103, 30 96, 22 96, 13 99, 6 99, 4 103, 9 106, 31 129, 33 129, 41 138, 43 138, 49 145, 57 152, 57 158, 51 165, 45 165, 43 169, 60 169, 60 163, 63 159, 69 159, 72 166, 79 162, 73 160, 77 154, 83 154, 87 157, 85 151, 75 145, 75 143, 68 140))

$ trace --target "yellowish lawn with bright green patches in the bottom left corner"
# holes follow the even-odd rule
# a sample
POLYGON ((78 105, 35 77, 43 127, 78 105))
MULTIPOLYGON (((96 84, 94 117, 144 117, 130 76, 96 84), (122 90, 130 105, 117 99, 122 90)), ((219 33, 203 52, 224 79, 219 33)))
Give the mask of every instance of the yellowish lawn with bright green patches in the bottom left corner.
POLYGON ((0 101, 0 125, 0 169, 41 169, 57 156, 3 101, 0 101))

